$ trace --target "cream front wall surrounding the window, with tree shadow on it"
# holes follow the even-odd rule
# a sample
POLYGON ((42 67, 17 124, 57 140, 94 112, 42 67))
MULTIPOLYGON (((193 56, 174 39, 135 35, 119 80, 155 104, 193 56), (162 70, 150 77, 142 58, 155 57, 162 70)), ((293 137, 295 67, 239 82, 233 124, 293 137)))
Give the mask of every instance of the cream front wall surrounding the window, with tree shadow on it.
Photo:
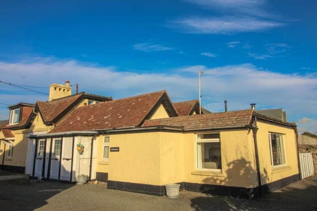
POLYGON ((221 172, 196 169, 196 135, 186 134, 184 140, 184 181, 192 183, 256 187, 257 174, 253 156, 254 143, 249 138, 252 131, 232 130, 220 132, 221 172))

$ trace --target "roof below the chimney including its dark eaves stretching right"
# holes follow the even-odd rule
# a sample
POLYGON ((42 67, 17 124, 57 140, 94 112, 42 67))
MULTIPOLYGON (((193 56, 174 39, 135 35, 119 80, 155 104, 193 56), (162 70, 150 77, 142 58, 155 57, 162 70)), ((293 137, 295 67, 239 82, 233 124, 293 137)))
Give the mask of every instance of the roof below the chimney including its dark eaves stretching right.
POLYGON ((84 98, 101 101, 112 100, 112 97, 104 97, 100 95, 81 92, 67 97, 54 99, 52 101, 37 101, 36 104, 40 110, 44 122, 53 123, 60 115, 62 115, 63 112, 69 111, 69 109, 71 109, 74 105, 76 105, 84 98))

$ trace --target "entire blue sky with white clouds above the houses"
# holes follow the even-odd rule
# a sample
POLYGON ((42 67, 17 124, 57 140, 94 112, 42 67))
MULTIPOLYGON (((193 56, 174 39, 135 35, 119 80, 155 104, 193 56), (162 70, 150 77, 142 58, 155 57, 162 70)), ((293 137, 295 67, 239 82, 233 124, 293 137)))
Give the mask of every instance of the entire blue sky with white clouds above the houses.
MULTIPOLYGON (((283 108, 317 133, 313 0, 3 1, 0 80, 120 98, 166 89, 213 112, 283 108)), ((48 91, 48 88, 34 88, 48 91)), ((0 84, 2 103, 47 100, 0 84)), ((0 119, 8 111, 0 105, 0 119)))

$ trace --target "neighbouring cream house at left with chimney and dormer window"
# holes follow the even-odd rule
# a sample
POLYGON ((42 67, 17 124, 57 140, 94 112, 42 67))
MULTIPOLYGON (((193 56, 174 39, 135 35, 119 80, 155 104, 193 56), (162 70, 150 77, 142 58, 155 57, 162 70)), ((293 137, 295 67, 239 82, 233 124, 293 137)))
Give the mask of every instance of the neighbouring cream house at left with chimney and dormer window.
MULTIPOLYGON (((69 82, 52 84, 49 101, 35 104, 18 103, 8 107, 9 120, 0 125, 0 167, 4 170, 32 174, 32 162, 28 150, 34 140, 31 134, 45 134, 62 117, 77 107, 112 100, 111 97, 88 94, 71 94, 69 82)), ((42 145, 39 145, 42 149, 42 145)), ((34 150, 34 149, 33 149, 34 150)))

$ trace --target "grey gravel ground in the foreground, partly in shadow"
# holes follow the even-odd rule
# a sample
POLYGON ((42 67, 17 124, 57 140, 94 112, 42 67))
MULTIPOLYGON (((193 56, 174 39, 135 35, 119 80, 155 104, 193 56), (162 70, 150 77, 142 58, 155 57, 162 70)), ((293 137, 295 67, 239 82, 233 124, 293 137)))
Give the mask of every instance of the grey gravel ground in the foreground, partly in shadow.
POLYGON ((317 178, 257 200, 181 191, 178 199, 106 189, 106 183, 0 182, 0 210, 316 210, 317 178))

